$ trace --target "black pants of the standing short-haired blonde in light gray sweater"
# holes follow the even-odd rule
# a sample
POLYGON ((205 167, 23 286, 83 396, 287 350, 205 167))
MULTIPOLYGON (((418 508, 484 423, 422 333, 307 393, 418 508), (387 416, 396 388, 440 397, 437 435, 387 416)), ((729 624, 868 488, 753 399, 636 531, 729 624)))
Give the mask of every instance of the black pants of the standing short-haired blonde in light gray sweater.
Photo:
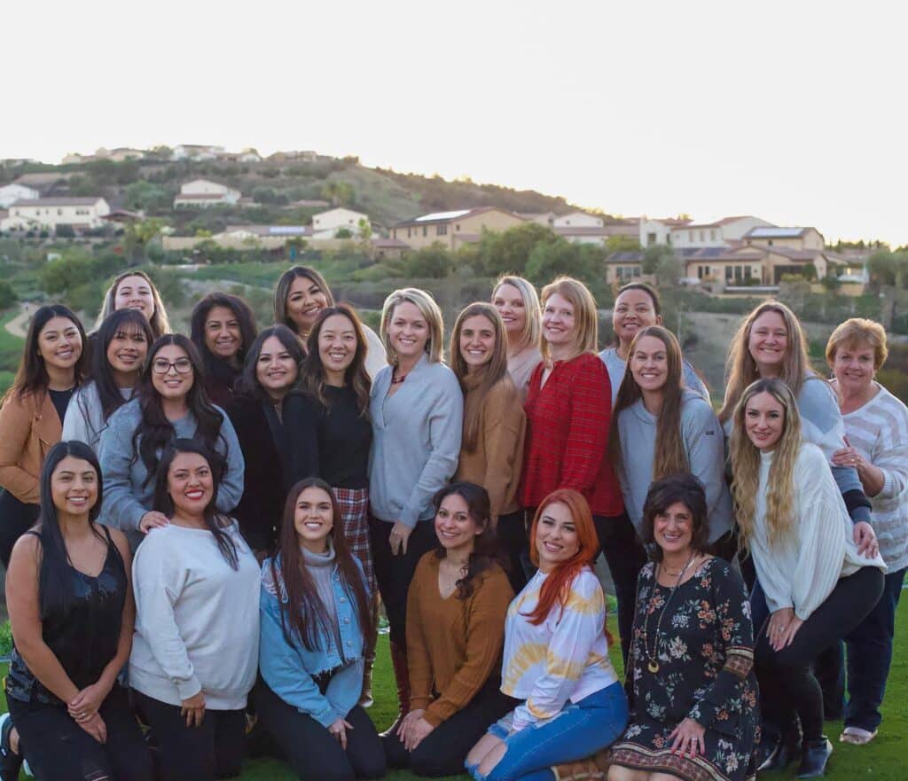
POLYGON ((423 554, 438 544, 435 536, 435 524, 420 520, 410 532, 407 540, 407 552, 400 556, 391 555, 388 538, 393 523, 369 516, 369 541, 372 546, 372 564, 375 567, 375 579, 379 584, 381 601, 385 606, 390 624, 390 639, 395 643, 406 643, 407 631, 407 592, 410 581, 416 572, 416 565, 423 554))

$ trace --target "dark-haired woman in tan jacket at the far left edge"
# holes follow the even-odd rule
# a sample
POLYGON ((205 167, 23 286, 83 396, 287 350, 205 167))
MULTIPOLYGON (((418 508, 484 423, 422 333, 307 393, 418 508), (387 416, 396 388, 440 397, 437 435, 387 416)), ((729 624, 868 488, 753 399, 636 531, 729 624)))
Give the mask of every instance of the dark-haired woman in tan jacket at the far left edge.
POLYGON ((66 409, 84 381, 85 331, 62 304, 35 310, 12 387, 0 407, 0 562, 38 518, 41 465, 60 441, 66 409))

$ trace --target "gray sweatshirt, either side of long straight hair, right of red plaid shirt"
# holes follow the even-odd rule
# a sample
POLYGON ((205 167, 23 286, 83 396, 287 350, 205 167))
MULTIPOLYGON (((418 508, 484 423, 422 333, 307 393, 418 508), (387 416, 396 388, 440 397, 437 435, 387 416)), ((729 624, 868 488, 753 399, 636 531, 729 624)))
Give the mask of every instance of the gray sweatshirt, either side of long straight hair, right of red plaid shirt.
MULTIPOLYGON (((653 481, 657 421, 656 416, 646 410, 642 399, 621 410, 617 416, 621 439, 618 480, 627 516, 637 531, 643 523, 646 492, 653 481)), ((732 524, 732 499, 725 483, 725 438, 713 408, 694 391, 684 391, 681 436, 691 474, 706 489, 709 541, 714 542, 731 529, 732 524)))

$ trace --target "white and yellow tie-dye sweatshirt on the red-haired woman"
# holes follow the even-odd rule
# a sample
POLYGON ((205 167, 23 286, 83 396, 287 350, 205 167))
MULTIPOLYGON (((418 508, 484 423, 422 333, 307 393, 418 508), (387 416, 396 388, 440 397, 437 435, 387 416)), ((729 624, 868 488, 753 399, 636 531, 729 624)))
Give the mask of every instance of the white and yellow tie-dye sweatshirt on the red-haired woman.
POLYGON ((606 598, 593 570, 583 569, 564 608, 556 603, 534 626, 528 615, 547 577, 537 572, 508 608, 501 691, 525 700, 514 710, 518 730, 558 716, 568 700, 579 702, 617 681, 608 660, 606 598))

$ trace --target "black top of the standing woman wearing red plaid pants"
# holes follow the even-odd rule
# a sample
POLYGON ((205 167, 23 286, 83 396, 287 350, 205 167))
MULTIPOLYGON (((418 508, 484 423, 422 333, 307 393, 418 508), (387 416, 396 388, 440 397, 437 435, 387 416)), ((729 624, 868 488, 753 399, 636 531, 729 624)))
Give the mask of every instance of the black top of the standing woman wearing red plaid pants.
POLYGON ((291 482, 320 477, 332 488, 367 488, 372 446, 369 415, 360 414, 351 388, 329 385, 324 392, 327 407, 305 393, 291 393, 284 399, 291 482))

